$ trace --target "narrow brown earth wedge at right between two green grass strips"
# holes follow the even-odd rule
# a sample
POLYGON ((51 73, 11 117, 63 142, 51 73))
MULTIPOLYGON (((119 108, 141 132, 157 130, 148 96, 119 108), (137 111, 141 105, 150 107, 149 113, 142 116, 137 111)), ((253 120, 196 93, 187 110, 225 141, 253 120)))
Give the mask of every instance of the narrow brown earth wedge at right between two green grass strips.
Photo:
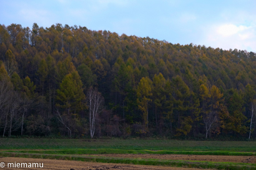
POLYGON ((170 159, 188 161, 209 161, 229 163, 256 163, 256 156, 221 156, 221 155, 193 155, 193 154, 91 154, 91 156, 106 156, 113 158, 141 158, 141 159, 170 159))

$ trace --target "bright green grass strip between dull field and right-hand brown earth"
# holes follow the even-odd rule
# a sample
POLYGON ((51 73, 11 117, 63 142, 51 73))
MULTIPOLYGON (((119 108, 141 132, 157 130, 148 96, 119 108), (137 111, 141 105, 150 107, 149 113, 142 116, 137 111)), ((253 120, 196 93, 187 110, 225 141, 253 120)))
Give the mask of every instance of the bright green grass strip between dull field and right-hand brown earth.
POLYGON ((39 153, 39 154, 195 154, 195 155, 222 155, 222 156, 256 156, 256 153, 230 152, 230 151, 150 151, 132 149, 64 149, 64 150, 21 150, 2 151, 13 153, 39 153))

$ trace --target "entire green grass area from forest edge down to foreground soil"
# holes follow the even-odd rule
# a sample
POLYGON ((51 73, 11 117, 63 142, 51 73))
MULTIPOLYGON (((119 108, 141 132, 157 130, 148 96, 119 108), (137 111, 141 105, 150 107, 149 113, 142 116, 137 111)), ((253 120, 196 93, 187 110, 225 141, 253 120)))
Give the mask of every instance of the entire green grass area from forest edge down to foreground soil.
MULTIPOLYGON (((1 138, 0 156, 64 159, 96 163, 126 163, 215 169, 256 169, 247 162, 229 163, 191 160, 116 158, 115 154, 189 154, 251 156, 256 158, 255 141, 178 141, 168 139, 46 139, 1 138), (92 156, 101 154, 101 156, 92 156), (111 157, 106 154, 112 154, 111 157)), ((251 158, 250 158, 251 159, 251 158)))

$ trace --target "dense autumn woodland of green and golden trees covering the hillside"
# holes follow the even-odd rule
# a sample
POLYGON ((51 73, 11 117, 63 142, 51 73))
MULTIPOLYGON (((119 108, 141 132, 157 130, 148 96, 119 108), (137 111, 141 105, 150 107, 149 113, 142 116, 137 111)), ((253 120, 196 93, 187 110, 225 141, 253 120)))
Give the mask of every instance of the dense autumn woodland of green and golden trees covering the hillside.
POLYGON ((0 134, 255 139, 255 67, 246 50, 0 25, 0 134))

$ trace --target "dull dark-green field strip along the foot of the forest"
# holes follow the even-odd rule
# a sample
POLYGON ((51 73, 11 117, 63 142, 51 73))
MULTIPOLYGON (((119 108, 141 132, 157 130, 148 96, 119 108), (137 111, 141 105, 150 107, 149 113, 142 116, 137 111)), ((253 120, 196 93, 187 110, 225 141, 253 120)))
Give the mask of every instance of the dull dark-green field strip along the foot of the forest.
POLYGON ((256 141, 178 141, 170 139, 1 138, 0 149, 134 149, 256 152, 256 141))

